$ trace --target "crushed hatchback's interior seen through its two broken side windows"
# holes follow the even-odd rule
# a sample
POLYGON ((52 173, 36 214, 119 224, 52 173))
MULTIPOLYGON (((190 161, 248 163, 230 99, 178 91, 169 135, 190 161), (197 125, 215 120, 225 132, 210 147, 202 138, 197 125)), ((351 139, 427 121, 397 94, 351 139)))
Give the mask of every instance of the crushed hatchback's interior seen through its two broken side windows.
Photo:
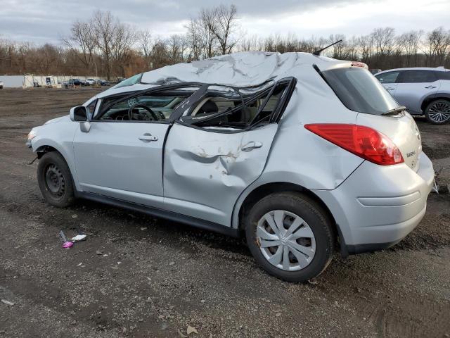
MULTIPOLYGON (((253 124, 269 123, 288 83, 277 83, 251 94, 243 94, 239 89, 223 87, 217 90, 211 85, 203 96, 181 118, 184 123, 198 127, 227 127, 243 129, 253 124)), ((103 106, 113 104, 99 120, 115 121, 165 121, 184 102, 192 91, 159 92, 105 99, 103 106)))

